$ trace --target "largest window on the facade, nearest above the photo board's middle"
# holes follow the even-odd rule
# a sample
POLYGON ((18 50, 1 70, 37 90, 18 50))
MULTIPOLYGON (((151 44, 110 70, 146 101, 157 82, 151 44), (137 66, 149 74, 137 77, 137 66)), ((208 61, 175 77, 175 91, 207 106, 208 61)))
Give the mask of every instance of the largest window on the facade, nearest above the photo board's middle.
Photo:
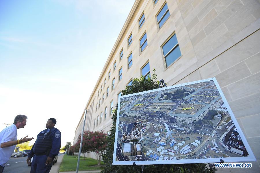
POLYGON ((181 50, 174 34, 163 46, 163 54, 166 63, 166 67, 171 65, 175 60, 181 56, 181 50))

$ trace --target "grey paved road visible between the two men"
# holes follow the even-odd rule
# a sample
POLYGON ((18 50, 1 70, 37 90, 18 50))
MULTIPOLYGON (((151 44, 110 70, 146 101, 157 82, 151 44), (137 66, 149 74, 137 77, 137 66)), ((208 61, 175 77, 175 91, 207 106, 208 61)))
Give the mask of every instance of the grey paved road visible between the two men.
MULTIPOLYGON (((60 153, 58 156, 61 155, 60 153)), ((28 173, 31 170, 31 167, 26 163, 27 157, 11 157, 5 165, 3 173, 28 173)))

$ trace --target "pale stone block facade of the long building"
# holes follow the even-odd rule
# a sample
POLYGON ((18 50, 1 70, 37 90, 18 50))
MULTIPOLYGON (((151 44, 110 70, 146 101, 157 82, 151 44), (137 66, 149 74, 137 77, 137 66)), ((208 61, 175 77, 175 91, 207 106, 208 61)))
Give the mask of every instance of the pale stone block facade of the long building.
MULTIPOLYGON (((109 131, 112 125, 111 101, 115 108, 120 91, 132 78, 141 76, 141 69, 147 62, 151 73, 155 68, 157 79, 164 79, 168 85, 216 77, 257 159, 252 162, 253 168, 226 168, 218 169, 218 172, 260 172, 259 17, 257 0, 159 0, 156 5, 153 0, 136 0, 85 107, 88 114, 84 130, 109 131), (170 16, 159 28, 156 16, 165 2, 170 16), (143 12, 145 22, 139 29, 138 20, 143 12), (147 46, 141 52, 139 41, 144 33, 147 46), (128 46, 130 34, 132 44, 128 46), (173 34, 177 36, 181 56, 166 67, 162 45, 173 34), (123 58, 120 60, 122 49, 123 58), (128 68, 127 57, 131 53, 133 65, 128 68), (122 79, 119 80, 121 67, 122 79), (114 78, 115 88, 111 90, 114 78), (103 93, 106 95, 108 86, 109 95, 96 108, 103 93), (102 122, 95 122, 94 127, 94 120, 101 112, 102 122)), ((75 131, 74 143, 83 127, 83 114, 75 131)), ((89 154, 89 157, 94 155, 89 154)))

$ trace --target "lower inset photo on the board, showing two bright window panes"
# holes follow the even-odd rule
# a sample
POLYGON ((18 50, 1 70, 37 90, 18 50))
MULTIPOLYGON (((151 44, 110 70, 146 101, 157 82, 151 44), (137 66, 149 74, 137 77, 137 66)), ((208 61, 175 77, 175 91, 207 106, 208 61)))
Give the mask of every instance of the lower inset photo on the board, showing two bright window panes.
POLYGON ((122 156, 141 156, 141 155, 143 155, 141 142, 122 143, 122 156))

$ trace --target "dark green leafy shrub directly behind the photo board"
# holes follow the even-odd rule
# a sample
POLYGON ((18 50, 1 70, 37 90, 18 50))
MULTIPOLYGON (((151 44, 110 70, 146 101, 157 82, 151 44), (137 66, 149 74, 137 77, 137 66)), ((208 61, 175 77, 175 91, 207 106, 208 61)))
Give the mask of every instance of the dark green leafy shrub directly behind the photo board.
MULTIPOLYGON (((141 91, 147 91, 151 89, 157 89, 159 87, 159 81, 156 79, 157 75, 155 74, 155 69, 153 69, 152 78, 148 79, 141 76, 140 78, 135 78, 132 81, 131 86, 126 86, 125 90, 122 90, 122 95, 138 93, 141 91)), ((115 142, 115 133, 116 133, 116 117, 117 117, 117 107, 113 110, 112 114, 112 128, 109 131, 110 135, 107 136, 107 148, 102 158, 105 167, 101 167, 102 172, 142 172, 142 168, 137 165, 112 165, 113 160, 113 151, 114 151, 114 142, 115 142)), ((145 165, 144 172, 209 172, 206 168, 205 163, 196 163, 196 164, 166 164, 166 165, 145 165)))

